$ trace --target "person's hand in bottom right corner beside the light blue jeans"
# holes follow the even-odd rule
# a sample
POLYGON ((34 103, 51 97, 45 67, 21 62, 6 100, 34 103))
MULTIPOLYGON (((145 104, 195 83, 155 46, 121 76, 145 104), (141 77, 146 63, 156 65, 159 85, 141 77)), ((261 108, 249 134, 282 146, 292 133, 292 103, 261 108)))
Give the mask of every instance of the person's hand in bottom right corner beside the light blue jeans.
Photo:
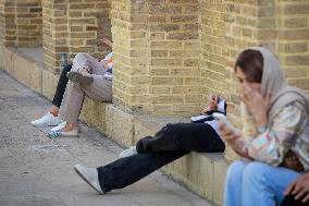
POLYGON ((284 191, 284 195, 292 194, 295 199, 302 203, 309 201, 309 172, 297 177, 284 191))

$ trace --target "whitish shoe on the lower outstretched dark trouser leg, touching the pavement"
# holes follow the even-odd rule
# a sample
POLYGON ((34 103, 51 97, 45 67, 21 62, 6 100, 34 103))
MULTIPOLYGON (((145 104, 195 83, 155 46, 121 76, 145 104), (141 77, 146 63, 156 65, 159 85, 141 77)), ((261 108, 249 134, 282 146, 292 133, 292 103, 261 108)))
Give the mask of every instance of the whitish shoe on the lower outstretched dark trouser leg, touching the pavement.
POLYGON ((92 189, 95 189, 99 194, 104 194, 99 183, 98 170, 96 168, 88 168, 83 165, 75 165, 74 170, 77 174, 83 178, 92 189))

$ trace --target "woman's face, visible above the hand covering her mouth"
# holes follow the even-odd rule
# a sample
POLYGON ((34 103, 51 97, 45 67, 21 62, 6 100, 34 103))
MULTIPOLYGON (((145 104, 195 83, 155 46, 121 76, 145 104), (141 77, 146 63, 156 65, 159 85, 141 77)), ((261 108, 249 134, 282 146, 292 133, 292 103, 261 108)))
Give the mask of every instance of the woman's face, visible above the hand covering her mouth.
POLYGON ((243 94, 246 87, 250 87, 251 89, 261 94, 261 83, 250 81, 239 66, 236 68, 235 75, 237 78, 238 93, 243 94))

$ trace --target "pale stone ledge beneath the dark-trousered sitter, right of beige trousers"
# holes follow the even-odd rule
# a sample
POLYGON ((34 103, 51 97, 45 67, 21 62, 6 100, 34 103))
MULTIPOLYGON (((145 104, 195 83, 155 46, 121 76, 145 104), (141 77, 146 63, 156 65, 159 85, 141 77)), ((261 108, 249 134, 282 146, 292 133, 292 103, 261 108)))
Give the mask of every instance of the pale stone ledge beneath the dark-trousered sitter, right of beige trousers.
MULTIPOLYGON (((153 135, 166 123, 188 122, 178 117, 138 116, 123 111, 113 104, 85 99, 81 119, 123 146, 153 135)), ((220 205, 227 165, 223 154, 189 155, 165 166, 162 171, 189 190, 220 205)))

